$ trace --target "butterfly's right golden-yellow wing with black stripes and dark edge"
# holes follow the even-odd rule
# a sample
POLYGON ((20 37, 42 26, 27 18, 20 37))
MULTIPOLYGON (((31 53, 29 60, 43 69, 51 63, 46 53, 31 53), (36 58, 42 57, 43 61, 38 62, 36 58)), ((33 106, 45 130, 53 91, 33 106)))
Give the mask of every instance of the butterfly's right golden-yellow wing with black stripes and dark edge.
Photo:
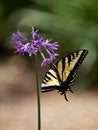
POLYGON ((62 60, 60 60, 57 63, 57 70, 59 73, 60 80, 62 82, 67 80, 70 72, 74 68, 79 67, 79 65, 83 61, 86 53, 87 53, 86 50, 76 51, 76 52, 72 53, 71 55, 65 56, 62 60))

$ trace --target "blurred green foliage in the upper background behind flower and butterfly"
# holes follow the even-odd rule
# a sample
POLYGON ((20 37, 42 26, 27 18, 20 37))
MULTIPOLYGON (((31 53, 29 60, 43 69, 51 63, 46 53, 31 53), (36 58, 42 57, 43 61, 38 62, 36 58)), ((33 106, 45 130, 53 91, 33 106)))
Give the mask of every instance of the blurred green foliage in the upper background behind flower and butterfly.
MULTIPOLYGON (((20 29, 29 38, 32 26, 41 36, 59 43, 58 59, 78 49, 89 50, 76 81, 87 90, 98 90, 97 0, 1 0, 1 63, 14 55, 12 33, 20 29)), ((27 57, 24 59, 28 62, 27 57)))

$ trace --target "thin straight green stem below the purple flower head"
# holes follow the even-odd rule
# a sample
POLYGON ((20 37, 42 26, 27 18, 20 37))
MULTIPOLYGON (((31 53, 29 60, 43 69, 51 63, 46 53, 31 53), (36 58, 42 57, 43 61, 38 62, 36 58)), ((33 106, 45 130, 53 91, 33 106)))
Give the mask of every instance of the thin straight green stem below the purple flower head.
POLYGON ((40 87, 38 78, 38 57, 35 56, 35 69, 36 69, 36 87, 37 87, 37 107, 38 107, 38 130, 41 130, 41 112, 40 112, 40 87))

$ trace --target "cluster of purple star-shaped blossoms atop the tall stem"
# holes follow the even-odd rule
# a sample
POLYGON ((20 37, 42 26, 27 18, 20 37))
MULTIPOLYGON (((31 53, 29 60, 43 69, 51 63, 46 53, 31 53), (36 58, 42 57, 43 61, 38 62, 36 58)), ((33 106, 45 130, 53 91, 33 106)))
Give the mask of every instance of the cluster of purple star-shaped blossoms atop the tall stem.
POLYGON ((50 64, 56 58, 56 56, 58 56, 58 54, 56 54, 54 51, 58 49, 59 45, 57 42, 50 43, 51 40, 45 40, 43 37, 38 35, 37 32, 38 30, 34 31, 34 28, 32 27, 32 39, 29 42, 28 39, 22 36, 18 30, 16 34, 12 34, 12 42, 16 43, 16 53, 28 53, 29 56, 32 56, 33 54, 36 55, 39 51, 43 59, 41 66, 46 66, 46 64, 50 64), (43 49, 48 54, 47 58, 42 52, 43 49))

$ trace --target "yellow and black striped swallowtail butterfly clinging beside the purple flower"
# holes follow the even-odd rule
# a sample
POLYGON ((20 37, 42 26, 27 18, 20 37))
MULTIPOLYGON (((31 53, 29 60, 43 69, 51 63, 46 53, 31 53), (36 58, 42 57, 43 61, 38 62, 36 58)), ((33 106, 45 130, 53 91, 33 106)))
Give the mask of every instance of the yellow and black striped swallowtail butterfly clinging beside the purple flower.
POLYGON ((78 50, 63 57, 56 64, 50 64, 50 69, 46 72, 42 81, 41 92, 57 90, 68 101, 66 92, 73 93, 71 87, 76 77, 76 71, 87 54, 88 50, 78 50))

